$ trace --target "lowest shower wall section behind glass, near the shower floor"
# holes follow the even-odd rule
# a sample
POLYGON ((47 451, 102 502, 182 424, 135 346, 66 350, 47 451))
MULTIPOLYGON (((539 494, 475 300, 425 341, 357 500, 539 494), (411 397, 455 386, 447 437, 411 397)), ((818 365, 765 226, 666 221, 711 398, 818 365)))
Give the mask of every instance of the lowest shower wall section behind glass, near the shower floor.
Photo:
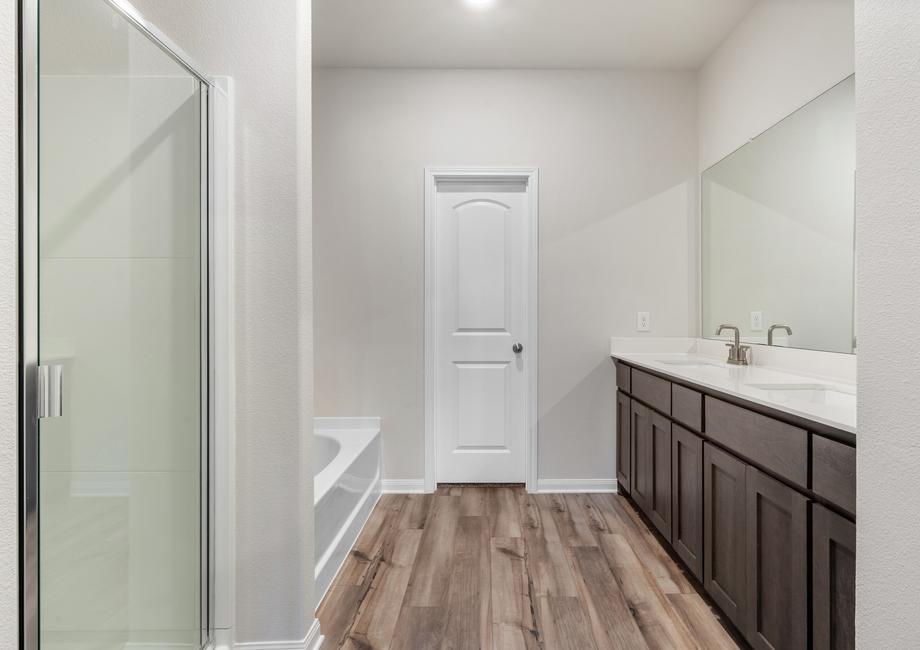
POLYGON ((69 639, 197 638, 198 503, 189 498, 197 474, 42 472, 41 480, 43 629, 69 639))

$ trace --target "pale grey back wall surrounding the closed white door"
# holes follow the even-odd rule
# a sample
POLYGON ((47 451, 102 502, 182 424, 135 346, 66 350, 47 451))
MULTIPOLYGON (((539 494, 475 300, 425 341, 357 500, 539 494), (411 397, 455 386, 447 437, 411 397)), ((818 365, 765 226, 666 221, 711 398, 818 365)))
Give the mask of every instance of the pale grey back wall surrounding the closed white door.
POLYGON ((692 73, 318 69, 317 413, 383 417, 424 474, 426 165, 540 168, 541 478, 613 478, 611 335, 686 336, 692 73))

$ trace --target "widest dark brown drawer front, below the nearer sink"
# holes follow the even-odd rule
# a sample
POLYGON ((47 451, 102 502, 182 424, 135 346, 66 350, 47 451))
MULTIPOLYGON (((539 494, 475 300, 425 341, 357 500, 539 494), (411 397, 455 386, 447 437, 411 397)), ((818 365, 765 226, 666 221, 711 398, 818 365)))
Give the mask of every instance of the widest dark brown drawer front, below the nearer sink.
POLYGON ((707 396, 706 435, 796 485, 808 487, 808 433, 804 429, 707 396))

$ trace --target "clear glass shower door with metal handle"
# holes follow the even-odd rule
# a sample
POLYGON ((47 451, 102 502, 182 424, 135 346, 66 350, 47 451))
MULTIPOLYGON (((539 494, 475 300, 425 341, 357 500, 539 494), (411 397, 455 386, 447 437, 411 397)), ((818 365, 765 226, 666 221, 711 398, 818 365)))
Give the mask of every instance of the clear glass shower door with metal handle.
POLYGON ((48 417, 36 418, 28 645, 197 648, 207 628, 206 85, 104 0, 33 1, 33 347, 48 368, 36 379, 50 384, 37 389, 49 397, 36 407, 48 417))

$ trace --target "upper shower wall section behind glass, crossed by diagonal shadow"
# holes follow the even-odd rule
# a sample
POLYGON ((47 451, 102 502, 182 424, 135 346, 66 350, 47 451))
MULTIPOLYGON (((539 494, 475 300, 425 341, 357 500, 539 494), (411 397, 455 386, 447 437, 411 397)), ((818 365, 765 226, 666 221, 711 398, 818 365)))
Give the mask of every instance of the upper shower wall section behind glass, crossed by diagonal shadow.
POLYGON ((196 256, 192 80, 45 76, 41 92, 42 257, 196 256))

